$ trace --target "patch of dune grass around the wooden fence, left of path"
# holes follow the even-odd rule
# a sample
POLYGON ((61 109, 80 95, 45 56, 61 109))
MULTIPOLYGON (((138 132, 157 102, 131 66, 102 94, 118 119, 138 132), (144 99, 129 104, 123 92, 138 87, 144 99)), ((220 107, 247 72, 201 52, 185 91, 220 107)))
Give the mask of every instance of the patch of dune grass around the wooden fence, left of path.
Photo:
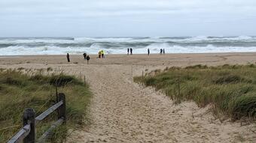
MULTIPOLYGON (((67 122, 59 127, 49 142, 63 142, 67 131, 88 123, 87 105, 90 102, 88 85, 63 73, 46 71, 0 70, 0 142, 7 142, 22 127, 23 111, 35 109, 40 115, 56 103, 56 88, 66 94, 67 122)), ((56 112, 36 125, 37 137, 57 120, 56 112)))

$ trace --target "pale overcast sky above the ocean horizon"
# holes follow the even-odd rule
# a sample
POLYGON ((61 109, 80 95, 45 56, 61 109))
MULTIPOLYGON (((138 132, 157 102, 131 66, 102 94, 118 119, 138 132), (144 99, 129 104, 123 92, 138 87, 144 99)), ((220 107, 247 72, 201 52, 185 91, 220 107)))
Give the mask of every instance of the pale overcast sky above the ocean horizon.
POLYGON ((0 0, 0 37, 256 35, 255 0, 0 0))

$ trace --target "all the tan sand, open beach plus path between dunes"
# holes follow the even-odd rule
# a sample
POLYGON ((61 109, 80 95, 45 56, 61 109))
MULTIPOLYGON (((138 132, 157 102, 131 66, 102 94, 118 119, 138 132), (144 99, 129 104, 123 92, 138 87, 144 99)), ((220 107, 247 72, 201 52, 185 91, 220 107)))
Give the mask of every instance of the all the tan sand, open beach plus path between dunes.
POLYGON ((254 142, 253 124, 219 121, 193 102, 173 104, 169 97, 133 82, 142 70, 195 64, 255 64, 256 52, 166 55, 0 56, 0 68, 52 67, 86 77, 93 92, 90 127, 72 131, 68 142, 254 142))

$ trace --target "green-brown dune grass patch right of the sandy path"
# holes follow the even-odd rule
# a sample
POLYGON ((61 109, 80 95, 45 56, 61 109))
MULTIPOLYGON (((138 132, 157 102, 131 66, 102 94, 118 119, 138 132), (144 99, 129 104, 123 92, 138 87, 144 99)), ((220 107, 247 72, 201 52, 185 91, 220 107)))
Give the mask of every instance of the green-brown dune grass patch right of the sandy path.
POLYGON ((214 115, 220 118, 236 121, 256 117, 254 64, 166 67, 163 71, 147 73, 143 78, 135 77, 134 81, 164 91, 175 103, 193 100, 200 107, 211 105, 214 115))

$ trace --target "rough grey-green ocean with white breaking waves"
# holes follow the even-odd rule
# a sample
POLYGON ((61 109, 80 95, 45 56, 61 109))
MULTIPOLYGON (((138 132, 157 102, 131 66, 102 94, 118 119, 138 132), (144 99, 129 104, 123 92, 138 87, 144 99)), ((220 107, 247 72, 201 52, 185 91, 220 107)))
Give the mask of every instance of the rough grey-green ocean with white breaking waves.
POLYGON ((256 52, 256 37, 0 37, 0 55, 256 52))

